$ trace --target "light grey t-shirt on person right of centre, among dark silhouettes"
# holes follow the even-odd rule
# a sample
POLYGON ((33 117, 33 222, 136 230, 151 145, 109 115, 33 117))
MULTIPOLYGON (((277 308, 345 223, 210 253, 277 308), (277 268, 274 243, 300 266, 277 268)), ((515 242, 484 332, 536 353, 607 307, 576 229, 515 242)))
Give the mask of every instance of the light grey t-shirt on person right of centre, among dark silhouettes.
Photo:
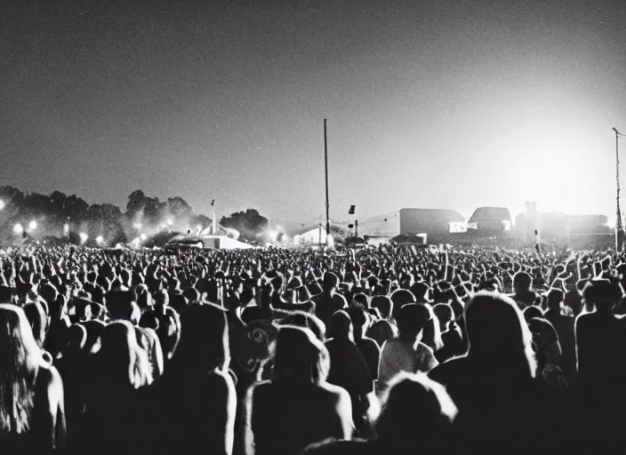
POLYGON ((400 339, 385 341, 381 350, 381 363, 378 366, 378 379, 381 389, 389 385, 400 371, 414 373, 430 371, 439 363, 433 350, 421 341, 417 344, 400 339))

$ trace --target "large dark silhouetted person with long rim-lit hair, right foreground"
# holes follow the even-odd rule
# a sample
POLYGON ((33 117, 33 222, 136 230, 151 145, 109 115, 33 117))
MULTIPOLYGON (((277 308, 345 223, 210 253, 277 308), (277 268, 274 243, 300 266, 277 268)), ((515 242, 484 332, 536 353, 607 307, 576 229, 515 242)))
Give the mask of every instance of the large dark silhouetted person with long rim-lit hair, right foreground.
POLYGON ((465 307, 468 352, 429 377, 459 408, 458 451, 542 453, 554 449, 554 413, 535 381, 533 336, 513 299, 479 291, 465 307))

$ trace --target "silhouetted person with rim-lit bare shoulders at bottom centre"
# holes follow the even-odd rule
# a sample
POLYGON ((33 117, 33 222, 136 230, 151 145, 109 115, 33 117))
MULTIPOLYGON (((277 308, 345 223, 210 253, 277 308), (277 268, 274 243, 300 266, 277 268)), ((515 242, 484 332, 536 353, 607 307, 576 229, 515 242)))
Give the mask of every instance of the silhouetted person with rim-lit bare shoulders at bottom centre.
POLYGON ((275 357, 275 378, 246 396, 246 454, 292 455, 327 437, 350 439, 352 404, 345 389, 326 382, 324 344, 309 329, 281 326, 275 357))

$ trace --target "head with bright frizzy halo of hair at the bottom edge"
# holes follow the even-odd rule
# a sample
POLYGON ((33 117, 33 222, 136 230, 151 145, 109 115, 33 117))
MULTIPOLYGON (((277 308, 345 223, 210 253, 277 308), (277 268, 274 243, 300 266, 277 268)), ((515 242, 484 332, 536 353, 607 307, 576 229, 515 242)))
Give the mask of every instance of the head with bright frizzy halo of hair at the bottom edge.
POLYGON ((441 453, 449 447, 456 405, 441 384, 424 373, 399 373, 383 398, 376 433, 381 450, 441 453))

